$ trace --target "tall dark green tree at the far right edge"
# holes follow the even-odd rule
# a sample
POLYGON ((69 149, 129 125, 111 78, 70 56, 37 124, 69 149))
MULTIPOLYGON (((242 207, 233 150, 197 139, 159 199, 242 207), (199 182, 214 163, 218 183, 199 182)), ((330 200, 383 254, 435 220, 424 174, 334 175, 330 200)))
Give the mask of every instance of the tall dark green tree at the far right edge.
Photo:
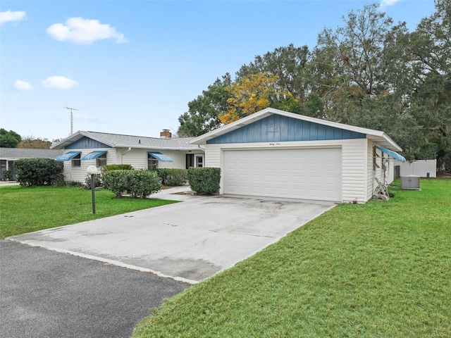
POLYGON ((421 130, 409 157, 451 159, 451 1, 436 0, 435 13, 414 32, 394 27, 385 44, 386 79, 421 130))

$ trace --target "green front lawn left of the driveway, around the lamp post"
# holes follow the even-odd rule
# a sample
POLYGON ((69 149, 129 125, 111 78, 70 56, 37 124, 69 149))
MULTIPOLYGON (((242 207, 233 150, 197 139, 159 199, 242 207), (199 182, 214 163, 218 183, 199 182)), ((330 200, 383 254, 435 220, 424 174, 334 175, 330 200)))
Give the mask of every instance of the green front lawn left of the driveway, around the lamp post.
POLYGON ((108 190, 98 190, 95 195, 93 215, 91 190, 0 187, 0 238, 175 203, 162 199, 121 199, 108 190))

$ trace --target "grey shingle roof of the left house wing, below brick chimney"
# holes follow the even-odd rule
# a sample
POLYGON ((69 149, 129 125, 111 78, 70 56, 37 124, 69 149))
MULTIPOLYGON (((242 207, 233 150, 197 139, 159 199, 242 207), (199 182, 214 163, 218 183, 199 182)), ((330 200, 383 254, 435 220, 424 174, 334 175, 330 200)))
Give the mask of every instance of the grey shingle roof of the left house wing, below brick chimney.
POLYGON ((83 132, 78 131, 70 135, 61 142, 51 146, 52 149, 62 149, 69 144, 81 139, 89 137, 98 142, 111 147, 129 147, 132 148, 148 148, 148 149, 172 149, 172 150, 196 150, 199 146, 189 144, 188 141, 192 137, 176 137, 171 139, 161 139, 156 137, 144 137, 123 134, 109 134, 106 132, 83 132))

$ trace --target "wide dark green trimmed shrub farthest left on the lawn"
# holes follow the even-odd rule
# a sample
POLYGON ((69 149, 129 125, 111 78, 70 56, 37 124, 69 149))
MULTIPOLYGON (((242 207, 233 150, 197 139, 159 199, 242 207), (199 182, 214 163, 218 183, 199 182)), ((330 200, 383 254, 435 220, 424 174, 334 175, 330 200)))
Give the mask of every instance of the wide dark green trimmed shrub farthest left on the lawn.
POLYGON ((14 161, 16 180, 20 185, 51 185, 63 177, 63 162, 52 158, 22 158, 14 161))

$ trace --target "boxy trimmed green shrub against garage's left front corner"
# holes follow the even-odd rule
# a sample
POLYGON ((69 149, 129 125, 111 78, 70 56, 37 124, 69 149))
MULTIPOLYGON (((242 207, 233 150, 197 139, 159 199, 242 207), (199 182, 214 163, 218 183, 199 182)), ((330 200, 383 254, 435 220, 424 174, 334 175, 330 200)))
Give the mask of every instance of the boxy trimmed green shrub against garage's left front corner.
POLYGON ((188 168, 188 182, 197 194, 216 194, 221 180, 220 168, 188 168))

